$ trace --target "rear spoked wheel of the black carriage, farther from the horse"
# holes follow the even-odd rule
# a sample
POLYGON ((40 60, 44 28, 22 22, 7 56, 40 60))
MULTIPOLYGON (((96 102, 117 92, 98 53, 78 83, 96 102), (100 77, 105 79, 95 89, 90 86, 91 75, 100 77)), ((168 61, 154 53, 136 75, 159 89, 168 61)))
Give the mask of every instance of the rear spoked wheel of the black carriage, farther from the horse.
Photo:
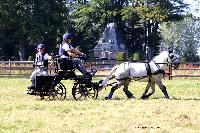
POLYGON ((64 100, 66 98, 66 88, 59 82, 49 90, 49 100, 64 100))

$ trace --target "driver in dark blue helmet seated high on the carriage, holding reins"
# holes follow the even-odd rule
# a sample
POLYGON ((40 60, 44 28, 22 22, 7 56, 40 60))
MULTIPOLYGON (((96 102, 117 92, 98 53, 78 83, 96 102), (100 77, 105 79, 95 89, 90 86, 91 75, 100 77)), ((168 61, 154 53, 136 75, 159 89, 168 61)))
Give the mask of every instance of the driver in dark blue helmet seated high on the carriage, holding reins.
POLYGON ((93 77, 96 73, 96 69, 92 69, 90 72, 86 70, 86 68, 81 64, 80 60, 76 60, 74 58, 83 57, 86 58, 86 54, 80 52, 76 48, 72 47, 72 35, 70 33, 66 33, 63 35, 63 42, 59 48, 59 55, 63 61, 72 60, 73 64, 76 68, 86 77, 93 77))

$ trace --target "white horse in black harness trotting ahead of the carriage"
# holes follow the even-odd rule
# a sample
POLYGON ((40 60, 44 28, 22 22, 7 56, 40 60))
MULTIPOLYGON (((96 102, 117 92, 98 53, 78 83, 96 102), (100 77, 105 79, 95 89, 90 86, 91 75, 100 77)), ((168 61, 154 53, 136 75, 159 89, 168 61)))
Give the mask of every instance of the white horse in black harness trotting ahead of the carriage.
POLYGON ((112 99, 113 93, 116 89, 124 85, 123 91, 128 98, 135 98, 133 94, 128 90, 128 85, 131 80, 148 82, 146 89, 142 95, 142 99, 148 98, 155 92, 155 83, 164 93, 165 98, 169 99, 166 87, 162 83, 162 79, 165 74, 165 69, 168 64, 172 64, 174 67, 178 67, 179 58, 172 51, 163 51, 159 55, 155 56, 153 60, 148 62, 124 62, 116 65, 112 68, 109 74, 102 81, 102 87, 99 89, 107 87, 108 81, 115 78, 117 82, 112 83, 111 91, 105 99, 112 99), (157 64, 159 63, 159 64, 157 64), (114 76, 113 72, 115 71, 114 76), (148 93, 149 88, 152 91, 148 93))

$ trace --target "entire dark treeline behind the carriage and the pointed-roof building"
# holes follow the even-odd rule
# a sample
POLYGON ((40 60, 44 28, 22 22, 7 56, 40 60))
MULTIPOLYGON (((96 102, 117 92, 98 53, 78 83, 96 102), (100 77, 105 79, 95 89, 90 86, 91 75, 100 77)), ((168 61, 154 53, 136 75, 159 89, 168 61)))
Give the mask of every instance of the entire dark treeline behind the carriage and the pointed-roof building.
POLYGON ((62 35, 74 35, 74 44, 89 53, 109 22, 117 24, 119 32, 130 52, 145 53, 144 43, 159 45, 160 22, 182 18, 185 5, 181 0, 140 0, 134 6, 129 0, 1 0, 0 1, 0 49, 1 57, 26 59, 33 55, 35 45, 44 43, 47 51, 55 52, 62 35), (78 3, 77 3, 78 2, 78 3), (147 26, 149 23, 150 28, 147 26), (146 37, 146 28, 154 29, 146 37), (154 43, 155 41, 155 43, 154 43), (19 56, 19 55, 20 56, 19 56))

